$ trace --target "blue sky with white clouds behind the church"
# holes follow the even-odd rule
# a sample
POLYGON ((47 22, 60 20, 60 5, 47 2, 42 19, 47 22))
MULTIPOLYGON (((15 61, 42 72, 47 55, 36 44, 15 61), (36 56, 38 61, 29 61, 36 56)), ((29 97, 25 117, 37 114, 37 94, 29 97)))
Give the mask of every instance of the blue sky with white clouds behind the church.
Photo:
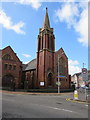
POLYGON ((11 46, 25 64, 36 58, 46 7, 54 28, 55 50, 64 49, 69 74, 81 72, 83 63, 88 68, 88 1, 84 0, 0 0, 0 49, 11 46))

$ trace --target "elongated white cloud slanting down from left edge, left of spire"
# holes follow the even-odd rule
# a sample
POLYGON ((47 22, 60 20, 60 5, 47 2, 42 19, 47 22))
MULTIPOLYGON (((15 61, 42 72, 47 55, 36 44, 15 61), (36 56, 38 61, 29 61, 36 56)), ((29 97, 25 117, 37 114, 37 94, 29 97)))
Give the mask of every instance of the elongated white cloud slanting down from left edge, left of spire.
POLYGON ((2 24, 4 28, 13 30, 18 34, 25 34, 21 29, 24 26, 24 22, 20 21, 17 24, 13 24, 11 17, 7 16, 2 9, 0 9, 0 24, 2 24))

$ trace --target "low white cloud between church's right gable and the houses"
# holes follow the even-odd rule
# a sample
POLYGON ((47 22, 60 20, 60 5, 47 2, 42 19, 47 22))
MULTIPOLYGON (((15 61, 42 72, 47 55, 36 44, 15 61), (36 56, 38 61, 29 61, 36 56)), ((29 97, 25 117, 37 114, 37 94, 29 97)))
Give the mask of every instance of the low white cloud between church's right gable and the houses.
POLYGON ((81 72, 81 68, 78 67, 79 62, 77 60, 69 60, 69 74, 73 75, 75 73, 81 72))

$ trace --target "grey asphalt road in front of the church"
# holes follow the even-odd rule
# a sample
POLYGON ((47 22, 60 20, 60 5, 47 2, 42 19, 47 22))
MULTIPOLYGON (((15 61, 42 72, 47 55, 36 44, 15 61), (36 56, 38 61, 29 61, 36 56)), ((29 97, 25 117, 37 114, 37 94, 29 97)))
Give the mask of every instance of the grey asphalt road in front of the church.
POLYGON ((69 95, 22 95, 3 93, 3 118, 88 118, 88 105, 66 101, 69 95))

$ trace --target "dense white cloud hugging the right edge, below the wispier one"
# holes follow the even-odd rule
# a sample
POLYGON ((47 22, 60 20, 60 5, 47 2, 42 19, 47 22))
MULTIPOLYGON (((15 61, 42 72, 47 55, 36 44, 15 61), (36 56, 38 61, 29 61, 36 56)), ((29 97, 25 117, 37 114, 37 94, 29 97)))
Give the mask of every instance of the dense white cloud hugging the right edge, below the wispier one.
POLYGON ((84 46, 88 45, 88 10, 85 9, 80 15, 80 20, 74 26, 79 33, 78 41, 84 46))

